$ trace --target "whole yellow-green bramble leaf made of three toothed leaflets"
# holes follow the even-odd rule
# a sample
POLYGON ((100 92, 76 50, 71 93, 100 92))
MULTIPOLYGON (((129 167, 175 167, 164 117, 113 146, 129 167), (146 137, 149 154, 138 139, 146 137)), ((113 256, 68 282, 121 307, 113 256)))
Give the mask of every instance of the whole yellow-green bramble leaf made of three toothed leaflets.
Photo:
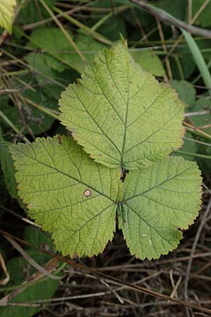
POLYGON ((116 215, 136 257, 175 249, 198 215, 201 178, 195 162, 168 156, 184 134, 174 90, 134 63, 124 42, 97 54, 59 104, 72 137, 11 147, 29 216, 63 255, 103 251, 116 215))

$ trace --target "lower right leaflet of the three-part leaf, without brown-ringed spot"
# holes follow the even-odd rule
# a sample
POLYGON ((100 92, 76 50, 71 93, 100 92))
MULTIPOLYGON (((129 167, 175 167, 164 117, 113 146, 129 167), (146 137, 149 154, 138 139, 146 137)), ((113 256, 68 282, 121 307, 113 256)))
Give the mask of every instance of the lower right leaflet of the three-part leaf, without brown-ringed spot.
POLYGON ((177 247, 198 215, 200 170, 195 162, 168 157, 150 168, 132 170, 124 182, 119 225, 132 254, 158 259, 177 247))

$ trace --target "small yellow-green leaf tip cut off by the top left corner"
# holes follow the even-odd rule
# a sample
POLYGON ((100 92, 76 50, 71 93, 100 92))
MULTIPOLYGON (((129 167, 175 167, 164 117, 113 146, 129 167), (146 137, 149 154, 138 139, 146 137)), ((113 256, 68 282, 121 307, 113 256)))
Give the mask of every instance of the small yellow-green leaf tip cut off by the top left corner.
POLYGON ((16 0, 0 0, 0 26, 9 33, 12 31, 12 21, 16 0))

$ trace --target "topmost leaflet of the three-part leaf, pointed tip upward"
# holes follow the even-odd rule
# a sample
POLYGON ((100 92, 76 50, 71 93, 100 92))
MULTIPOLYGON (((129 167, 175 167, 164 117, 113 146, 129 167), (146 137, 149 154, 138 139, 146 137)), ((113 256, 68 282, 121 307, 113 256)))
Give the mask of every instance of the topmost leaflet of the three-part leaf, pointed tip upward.
POLYGON ((60 120, 98 163, 136 169, 181 146, 184 106, 134 63, 127 45, 96 55, 60 99, 60 120))

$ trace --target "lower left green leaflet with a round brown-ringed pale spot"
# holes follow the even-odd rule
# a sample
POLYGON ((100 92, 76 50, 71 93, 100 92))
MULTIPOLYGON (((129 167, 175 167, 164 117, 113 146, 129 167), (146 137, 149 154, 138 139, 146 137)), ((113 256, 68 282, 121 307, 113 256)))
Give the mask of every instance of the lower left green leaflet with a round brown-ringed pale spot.
POLYGON ((68 137, 37 138, 11 152, 20 197, 53 233, 56 249, 70 256, 103 251, 115 231, 120 171, 98 165, 68 137))

